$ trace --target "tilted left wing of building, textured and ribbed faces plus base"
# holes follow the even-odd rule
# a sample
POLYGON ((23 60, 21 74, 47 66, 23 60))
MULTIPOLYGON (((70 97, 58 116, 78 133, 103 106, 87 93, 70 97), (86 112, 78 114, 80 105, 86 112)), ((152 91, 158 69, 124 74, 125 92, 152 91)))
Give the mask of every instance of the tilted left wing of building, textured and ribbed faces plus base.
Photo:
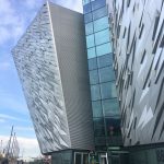
POLYGON ((42 153, 57 164, 87 161, 94 140, 83 14, 47 2, 12 54, 42 153))

